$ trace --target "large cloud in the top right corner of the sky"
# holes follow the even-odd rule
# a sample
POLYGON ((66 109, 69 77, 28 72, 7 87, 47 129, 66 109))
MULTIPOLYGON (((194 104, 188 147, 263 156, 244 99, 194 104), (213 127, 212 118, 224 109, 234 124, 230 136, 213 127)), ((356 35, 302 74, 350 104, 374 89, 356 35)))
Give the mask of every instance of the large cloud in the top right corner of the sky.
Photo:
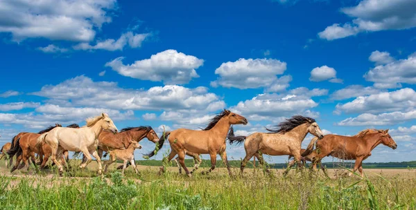
POLYGON ((357 6, 341 9, 354 18, 352 23, 334 23, 318 35, 321 39, 333 40, 360 32, 413 28, 416 26, 415 8, 414 0, 363 0, 357 6))

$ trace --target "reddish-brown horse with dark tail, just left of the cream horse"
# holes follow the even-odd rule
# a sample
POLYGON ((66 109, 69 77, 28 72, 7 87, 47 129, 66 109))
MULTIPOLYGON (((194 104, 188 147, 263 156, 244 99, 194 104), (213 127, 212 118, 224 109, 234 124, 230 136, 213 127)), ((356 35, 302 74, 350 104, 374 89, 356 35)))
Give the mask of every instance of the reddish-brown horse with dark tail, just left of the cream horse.
POLYGON ((20 161, 22 160, 24 164, 27 167, 27 170, 29 170, 29 163, 28 159, 31 158, 33 164, 36 165, 35 160, 35 153, 40 153, 40 148, 37 146, 37 137, 40 137, 40 135, 44 133, 48 133, 53 128, 60 127, 60 124, 55 124, 55 126, 49 126, 48 128, 39 131, 39 133, 25 133, 24 135, 21 135, 13 144, 12 148, 7 152, 8 155, 14 156, 16 155, 16 163, 15 166, 12 167, 10 172, 15 171, 20 164, 20 161))

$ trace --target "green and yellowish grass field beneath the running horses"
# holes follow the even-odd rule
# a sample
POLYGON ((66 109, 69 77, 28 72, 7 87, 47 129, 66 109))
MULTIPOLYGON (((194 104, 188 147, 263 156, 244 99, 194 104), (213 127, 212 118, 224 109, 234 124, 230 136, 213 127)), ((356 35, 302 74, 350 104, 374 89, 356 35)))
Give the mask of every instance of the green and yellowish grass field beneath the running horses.
MULTIPOLYGON (((73 161, 72 165, 76 166, 73 161)), ((265 175, 247 169, 243 177, 234 168, 215 169, 192 178, 179 175, 175 166, 157 175, 156 166, 139 166, 141 175, 128 169, 125 177, 112 170, 96 177, 93 162, 85 171, 73 170, 63 178, 55 169, 13 174, 0 166, 1 209, 416 209, 415 169, 364 169, 361 180, 322 173, 281 169, 265 175)))

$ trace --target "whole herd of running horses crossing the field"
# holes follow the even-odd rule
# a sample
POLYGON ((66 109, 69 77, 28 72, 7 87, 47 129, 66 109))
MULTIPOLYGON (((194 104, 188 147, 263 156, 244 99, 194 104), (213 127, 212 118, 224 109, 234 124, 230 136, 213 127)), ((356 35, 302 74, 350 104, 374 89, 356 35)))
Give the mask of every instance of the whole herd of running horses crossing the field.
MULTIPOLYGON (((77 124, 67 127, 55 124, 55 126, 49 126, 39 133, 19 133, 12 138, 10 143, 6 143, 1 148, 0 159, 6 158, 6 166, 8 162, 12 166, 15 157, 16 162, 12 166, 11 172, 24 166, 29 169, 29 160, 33 162, 35 167, 40 164, 40 169, 44 169, 47 167, 46 162, 51 159, 52 164, 58 166, 59 173, 62 175, 64 167, 68 166, 68 151, 73 151, 83 153, 80 169, 85 168, 92 161, 91 156, 93 156, 98 164, 98 174, 101 174, 103 169, 101 158, 106 152, 110 154, 110 160, 105 162, 105 171, 110 164, 119 159, 123 160, 123 166, 119 166, 118 169, 122 167, 123 173, 129 163, 138 173, 134 151, 141 149, 139 142, 146 137, 156 145, 155 149, 144 157, 150 158, 156 155, 167 139, 171 144, 171 153, 162 161, 170 162, 177 156, 175 161, 180 173, 184 169, 189 177, 200 166, 201 154, 209 154, 211 158, 211 168, 202 173, 207 174, 213 171, 216 167, 216 157, 220 155, 231 175, 232 171, 227 161, 227 141, 229 144, 244 143, 245 158, 241 161, 241 173, 253 156, 259 160, 261 166, 265 166, 263 154, 266 154, 289 155, 289 158, 294 158, 292 162, 289 162, 285 174, 295 163, 298 167, 302 167, 307 160, 312 164, 311 169, 316 169, 319 164, 327 175, 321 160, 326 156, 332 156, 343 160, 355 160, 353 171, 358 170, 363 176, 362 162, 371 155, 372 149, 379 144, 384 144, 392 149, 397 148, 397 144, 392 140, 388 130, 365 129, 354 136, 324 135, 313 118, 302 115, 295 115, 279 123, 276 128, 266 128, 268 131, 266 133, 258 132, 248 136, 234 135, 232 125, 245 125, 248 124, 248 120, 228 110, 218 113, 204 129, 178 128, 174 131, 164 131, 161 138, 150 126, 128 127, 118 131, 106 113, 89 118, 86 122, 86 126, 83 127, 79 127, 77 124), (306 149, 301 149, 302 141, 308 133, 315 137, 306 149), (36 154, 40 162, 36 162, 36 154), (185 155, 195 160, 193 171, 189 171, 185 165, 185 155)), ((266 169, 266 167, 264 168, 266 169)), ((162 166, 159 173, 164 171, 165 168, 162 166)), ((268 169, 266 171, 270 173, 268 169)))

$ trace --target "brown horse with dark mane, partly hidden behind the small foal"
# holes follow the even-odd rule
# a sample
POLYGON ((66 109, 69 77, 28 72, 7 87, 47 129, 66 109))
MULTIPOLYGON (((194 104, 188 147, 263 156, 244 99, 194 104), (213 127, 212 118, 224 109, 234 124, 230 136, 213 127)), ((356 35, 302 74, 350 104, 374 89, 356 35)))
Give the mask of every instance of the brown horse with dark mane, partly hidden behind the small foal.
MULTIPOLYGON (((110 152, 114 149, 127 149, 130 145, 130 140, 140 142, 145 137, 150 142, 159 142, 159 137, 157 136, 155 130, 153 130, 151 126, 123 128, 119 133, 116 134, 110 133, 108 131, 103 131, 98 136, 98 155, 101 158, 103 157, 103 151, 110 152)), ((87 160, 85 157, 83 157, 83 162, 85 161, 87 160)), ((127 166, 129 165, 130 162, 128 162, 127 166)), ((119 168, 122 169, 122 167, 123 165, 121 165, 121 168, 119 168)))

